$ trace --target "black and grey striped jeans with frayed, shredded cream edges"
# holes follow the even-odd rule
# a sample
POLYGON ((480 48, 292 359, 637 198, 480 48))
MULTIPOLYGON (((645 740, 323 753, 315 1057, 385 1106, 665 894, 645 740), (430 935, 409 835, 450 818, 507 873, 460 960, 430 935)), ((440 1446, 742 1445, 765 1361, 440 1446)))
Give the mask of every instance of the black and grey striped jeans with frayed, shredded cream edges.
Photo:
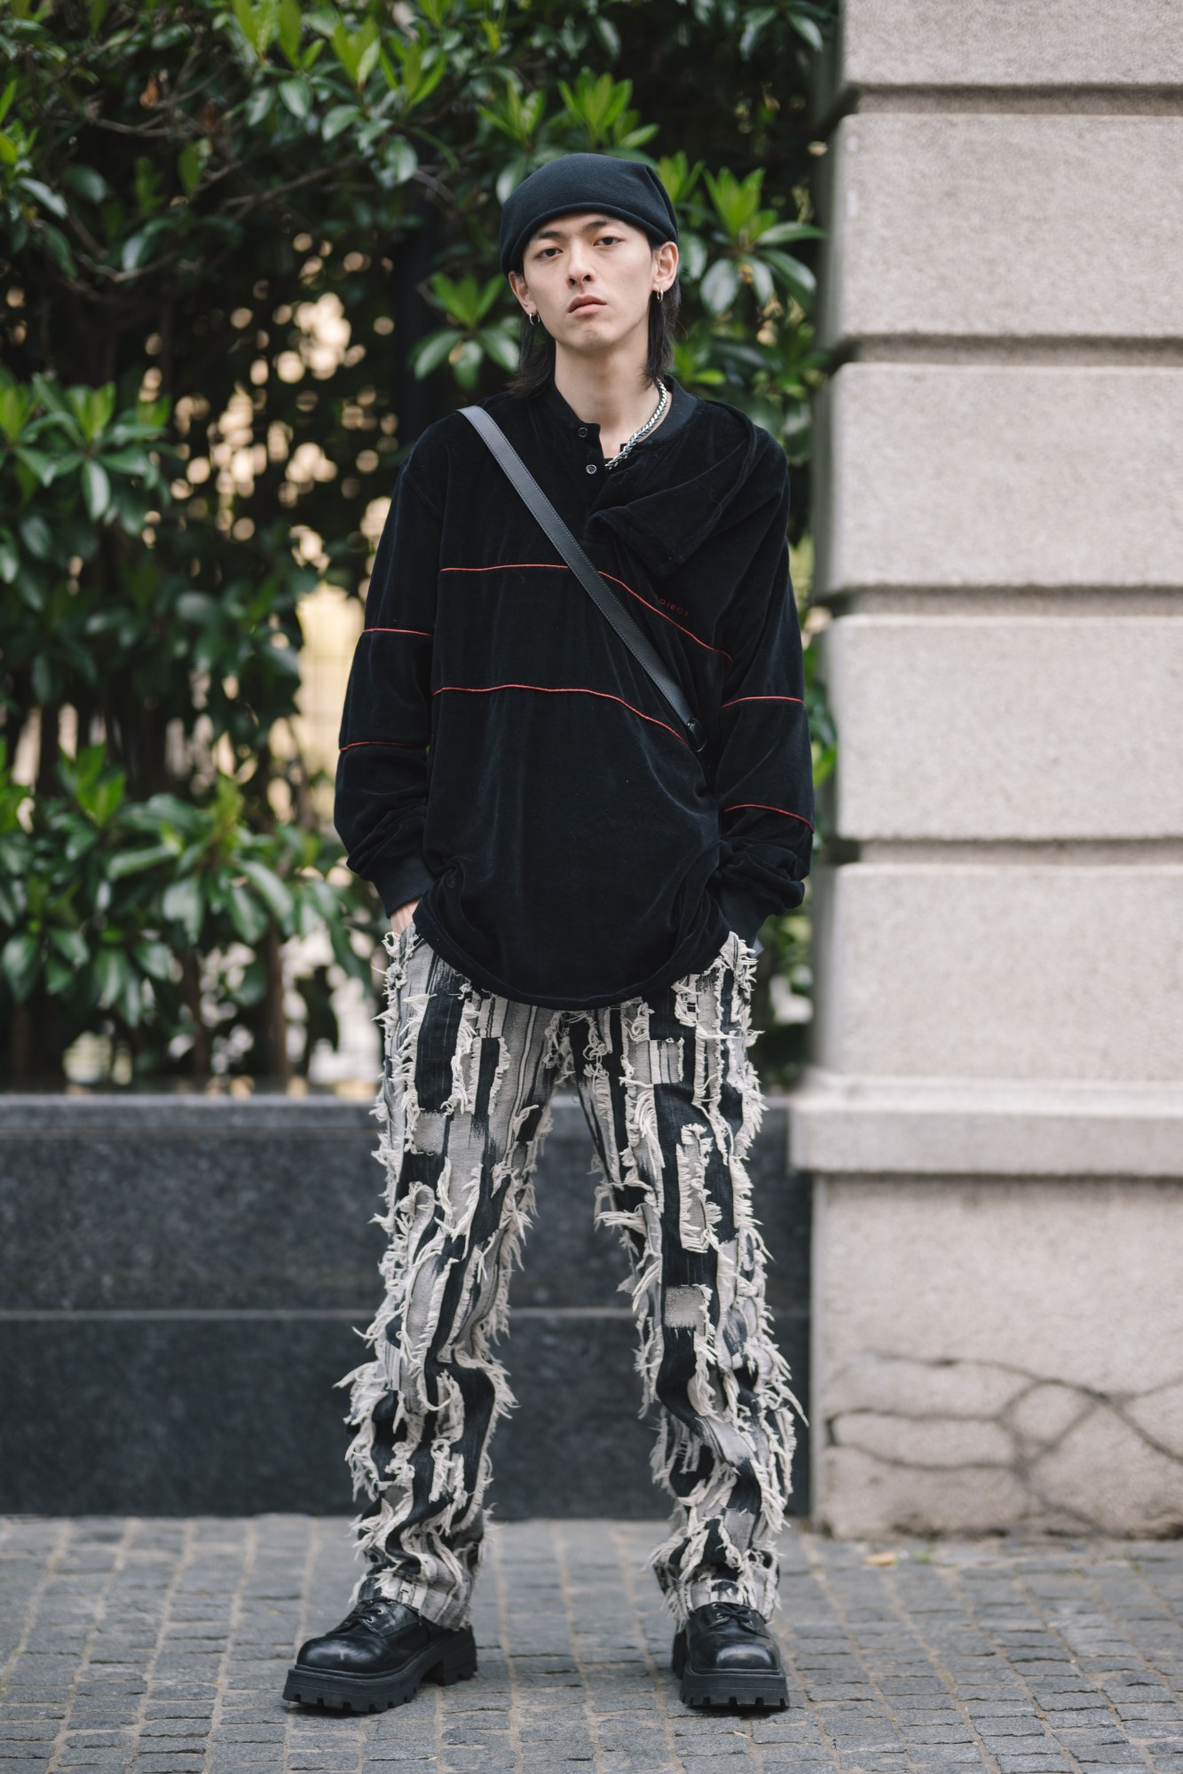
POLYGON ((468 1621, 493 1426, 513 1407, 490 1345, 534 1212, 552 1093, 575 1087, 601 1178, 594 1219, 628 1251, 640 1414, 656 1403, 653 1476, 674 1499, 649 1565, 674 1621, 704 1602, 777 1605, 777 1533, 795 1444, 789 1371, 764 1300, 766 1249, 745 1155, 763 1116, 747 1048, 756 949, 649 999, 548 1009, 450 967, 408 924, 385 937, 385 1061, 374 1116, 385 1167, 385 1297, 348 1373, 351 1602, 385 1595, 468 1621))

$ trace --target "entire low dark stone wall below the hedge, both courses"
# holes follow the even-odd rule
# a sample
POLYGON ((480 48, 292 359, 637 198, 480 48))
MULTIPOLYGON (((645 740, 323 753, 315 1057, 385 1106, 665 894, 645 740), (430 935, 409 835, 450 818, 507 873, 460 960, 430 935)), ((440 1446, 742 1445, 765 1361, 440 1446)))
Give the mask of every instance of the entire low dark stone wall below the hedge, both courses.
MULTIPOLYGON (((339 1380, 380 1302, 372 1098, 0 1095, 0 1510, 356 1508, 339 1380)), ((748 1155, 770 1306, 805 1409, 809 1219, 784 1098, 748 1155)), ((575 1093, 553 1098, 537 1217, 498 1350, 520 1400, 495 1510, 651 1517, 653 1425, 575 1093)), ((805 1432, 795 1504, 807 1510, 805 1432)))

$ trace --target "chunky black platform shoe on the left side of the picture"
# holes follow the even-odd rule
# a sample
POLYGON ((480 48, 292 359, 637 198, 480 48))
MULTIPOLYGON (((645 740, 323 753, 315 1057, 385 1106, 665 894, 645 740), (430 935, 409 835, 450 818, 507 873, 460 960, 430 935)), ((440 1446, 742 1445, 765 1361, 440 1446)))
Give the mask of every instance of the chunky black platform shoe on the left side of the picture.
POLYGON ((284 1699, 342 1712, 380 1712, 419 1692, 420 1682, 449 1685, 477 1673, 472 1627, 436 1627, 383 1595, 351 1607, 339 1627, 305 1639, 287 1671, 284 1699))

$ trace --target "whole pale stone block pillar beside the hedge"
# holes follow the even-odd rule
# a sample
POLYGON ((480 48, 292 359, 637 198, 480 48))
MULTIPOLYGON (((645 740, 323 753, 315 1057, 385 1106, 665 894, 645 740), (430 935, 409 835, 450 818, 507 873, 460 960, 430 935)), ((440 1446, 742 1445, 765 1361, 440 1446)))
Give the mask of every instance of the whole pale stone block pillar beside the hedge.
POLYGON ((814 1511, 1183 1526, 1183 30, 844 0, 819 82, 814 1511))

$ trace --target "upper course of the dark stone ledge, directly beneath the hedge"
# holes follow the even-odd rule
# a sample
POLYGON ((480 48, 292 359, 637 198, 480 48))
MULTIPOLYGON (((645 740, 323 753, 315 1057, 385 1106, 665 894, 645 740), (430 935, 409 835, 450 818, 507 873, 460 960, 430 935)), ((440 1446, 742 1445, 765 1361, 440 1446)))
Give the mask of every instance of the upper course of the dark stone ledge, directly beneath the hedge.
MULTIPOLYGON (((782 1311, 809 1295, 809 1185, 786 1146, 784 1098, 768 1098, 748 1174, 782 1311)), ((0 1304, 351 1311, 378 1291, 376 1148, 367 1103, 0 1095, 0 1304)), ((598 1180, 578 1098, 559 1091, 513 1304, 626 1304, 619 1235, 592 1226, 598 1180)))

